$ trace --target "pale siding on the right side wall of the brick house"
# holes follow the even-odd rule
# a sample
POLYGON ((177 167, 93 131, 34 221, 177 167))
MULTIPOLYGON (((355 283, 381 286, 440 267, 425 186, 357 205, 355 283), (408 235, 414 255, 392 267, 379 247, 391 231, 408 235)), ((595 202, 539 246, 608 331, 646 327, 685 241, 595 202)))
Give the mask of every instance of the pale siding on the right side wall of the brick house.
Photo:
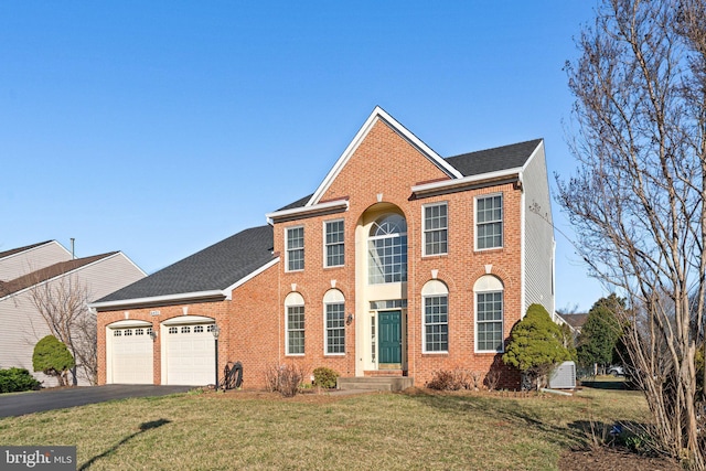
POLYGON ((554 312, 554 227, 544 142, 523 173, 525 196, 525 308, 538 303, 554 312))

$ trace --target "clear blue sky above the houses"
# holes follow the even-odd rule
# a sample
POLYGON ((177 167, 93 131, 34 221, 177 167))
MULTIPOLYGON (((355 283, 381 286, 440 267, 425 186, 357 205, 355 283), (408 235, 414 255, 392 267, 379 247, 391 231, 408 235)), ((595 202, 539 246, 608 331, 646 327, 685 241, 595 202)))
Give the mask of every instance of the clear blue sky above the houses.
MULTIPOLYGON (((376 105, 445 157, 542 137, 568 176, 593 7, 0 2, 0 251, 74 237, 153 272, 315 190, 376 105)), ((603 290, 556 239, 557 308, 586 310, 603 290)))

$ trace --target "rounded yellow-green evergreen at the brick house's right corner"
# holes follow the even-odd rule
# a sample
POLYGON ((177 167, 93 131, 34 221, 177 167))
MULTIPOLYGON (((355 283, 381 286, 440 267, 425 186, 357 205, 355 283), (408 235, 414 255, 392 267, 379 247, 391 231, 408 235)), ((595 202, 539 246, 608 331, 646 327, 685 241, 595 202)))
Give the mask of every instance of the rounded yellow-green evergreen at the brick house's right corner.
POLYGON ((530 306, 524 319, 512 328, 503 355, 503 362, 526 374, 537 389, 547 383, 557 364, 570 358, 559 327, 541 304, 530 306))

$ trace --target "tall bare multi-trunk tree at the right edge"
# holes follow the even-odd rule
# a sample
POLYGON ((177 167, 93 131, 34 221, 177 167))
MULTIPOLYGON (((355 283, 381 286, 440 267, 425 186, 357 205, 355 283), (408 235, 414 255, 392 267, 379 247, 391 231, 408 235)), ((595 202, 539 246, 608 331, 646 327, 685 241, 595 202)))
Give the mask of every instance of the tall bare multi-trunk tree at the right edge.
POLYGON ((703 0, 605 0, 567 64, 576 97, 558 201, 591 275, 628 299, 624 342, 663 451, 704 469, 695 353, 706 289, 703 0))

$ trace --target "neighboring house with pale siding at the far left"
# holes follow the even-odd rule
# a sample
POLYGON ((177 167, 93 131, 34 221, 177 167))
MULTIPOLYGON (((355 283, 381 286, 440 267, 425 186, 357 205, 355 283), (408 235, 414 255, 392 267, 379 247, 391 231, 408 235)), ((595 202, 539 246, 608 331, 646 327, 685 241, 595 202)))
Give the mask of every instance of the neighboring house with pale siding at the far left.
MULTIPOLYGON (((121 289, 146 274, 121 251, 74 258, 56 240, 0 253, 0 368, 22 367, 32 372, 36 342, 51 332, 32 301, 32 291, 61 283, 86 288, 88 301, 121 289)), ((33 372, 32 372, 33 373, 33 372)), ((33 373, 44 386, 55 378, 33 373)), ((90 384, 77 368, 78 384, 90 384)))

